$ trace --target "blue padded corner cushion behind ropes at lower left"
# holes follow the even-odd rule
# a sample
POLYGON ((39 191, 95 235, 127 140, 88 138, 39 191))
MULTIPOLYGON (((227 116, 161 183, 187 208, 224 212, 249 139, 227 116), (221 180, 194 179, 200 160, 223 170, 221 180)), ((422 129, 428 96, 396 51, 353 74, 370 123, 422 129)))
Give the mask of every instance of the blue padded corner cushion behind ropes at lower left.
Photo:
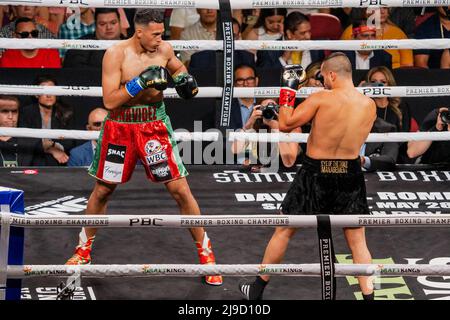
MULTIPOLYGON (((24 192, 22 190, 0 186, 0 205, 9 206, 9 211, 15 214, 24 214, 24 192)), ((8 265, 23 265, 23 249, 24 228, 11 227, 8 265)), ((6 300, 20 300, 21 290, 21 279, 8 279, 6 282, 6 300)))

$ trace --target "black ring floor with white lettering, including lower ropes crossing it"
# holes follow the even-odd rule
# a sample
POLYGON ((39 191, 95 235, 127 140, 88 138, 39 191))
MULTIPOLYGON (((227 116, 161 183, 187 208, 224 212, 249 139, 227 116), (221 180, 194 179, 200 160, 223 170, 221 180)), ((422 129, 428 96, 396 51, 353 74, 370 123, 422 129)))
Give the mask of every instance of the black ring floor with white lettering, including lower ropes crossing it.
MULTIPOLYGON (((294 171, 252 174, 239 172, 237 166, 189 166, 188 181, 203 216, 186 217, 172 215, 177 208, 170 195, 162 186, 146 183, 143 168, 138 168, 130 183, 116 190, 109 215, 94 217, 90 223, 86 216, 80 215, 93 185, 85 169, 36 170, 35 174, 25 174, 18 172, 21 170, 0 169, 2 181, 22 188, 27 202, 26 215, 11 219, 12 225, 26 228, 27 264, 8 268, 10 277, 22 278, 26 288, 23 297, 54 298, 56 292, 52 290, 61 279, 80 273, 78 299, 94 296, 96 299, 236 300, 240 299, 236 286, 241 276, 269 273, 280 276, 273 277, 266 299, 320 299, 318 243, 314 230, 317 221, 315 217, 282 217, 276 210, 294 171), (64 181, 72 183, 66 185, 64 181), (148 215, 155 211, 157 215, 148 215), (100 230, 93 251, 94 264, 80 268, 62 266, 82 223, 105 227, 100 230), (285 264, 255 265, 261 260, 272 233, 271 227, 264 226, 289 223, 303 227, 291 240, 285 264), (174 229, 195 225, 205 226, 214 240, 218 265, 196 264, 189 233, 174 229), (201 282, 199 277, 211 272, 226 275, 222 287, 212 288, 201 282)), ((433 171, 408 167, 399 168, 394 176, 387 172, 367 173, 372 215, 360 217, 361 221, 357 217, 331 217, 339 262, 335 273, 338 299, 358 297, 359 288, 352 280, 356 274, 382 276, 376 280, 380 285, 376 291, 378 299, 447 296, 444 288, 449 272, 446 264, 450 262, 447 253, 450 219, 445 207, 450 199, 446 198, 445 186, 449 178, 444 180, 448 171, 433 171), (424 181, 433 175, 431 181, 424 181), (397 200, 392 200, 394 197, 397 200), (433 197, 435 200, 430 200, 433 197), (429 200, 420 201, 425 198, 429 200), (397 209, 392 209, 394 206, 381 209, 388 201, 394 202, 397 209), (419 201, 413 209, 412 202, 419 201), (398 209, 407 202, 411 202, 410 209, 398 209), (436 206, 440 209, 433 209, 436 206), (373 265, 350 264, 350 254, 340 231, 347 224, 368 225, 373 265), (432 289, 435 293, 427 294, 432 289)))

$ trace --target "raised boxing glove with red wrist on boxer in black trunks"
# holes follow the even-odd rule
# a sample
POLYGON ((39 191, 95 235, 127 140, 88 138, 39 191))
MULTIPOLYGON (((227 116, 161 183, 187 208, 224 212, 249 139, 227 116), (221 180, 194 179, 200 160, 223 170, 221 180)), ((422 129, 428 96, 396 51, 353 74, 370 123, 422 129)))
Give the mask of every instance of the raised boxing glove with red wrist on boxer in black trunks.
POLYGON ((278 104, 280 107, 294 108, 297 90, 306 84, 308 77, 299 64, 290 64, 283 67, 281 73, 281 90, 278 104))

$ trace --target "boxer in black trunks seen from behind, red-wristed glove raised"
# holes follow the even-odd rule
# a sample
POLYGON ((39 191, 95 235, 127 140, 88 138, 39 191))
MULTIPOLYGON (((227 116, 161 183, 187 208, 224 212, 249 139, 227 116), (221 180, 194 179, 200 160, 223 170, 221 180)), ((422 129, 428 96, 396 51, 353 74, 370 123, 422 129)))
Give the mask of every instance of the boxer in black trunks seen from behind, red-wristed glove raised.
MULTIPOLYGON (((294 108, 295 94, 306 83, 300 66, 287 66, 280 91, 280 131, 311 122, 305 162, 297 172, 281 205, 282 214, 368 214, 364 176, 359 152, 376 119, 372 99, 357 91, 352 81, 352 67, 343 53, 333 53, 321 66, 325 88, 311 94, 294 108)), ((283 260, 296 228, 277 227, 267 245, 262 264, 283 260)), ((363 227, 344 228, 353 262, 370 264, 363 227)), ((249 300, 262 299, 269 276, 239 284, 249 300)), ((358 277, 364 299, 373 299, 369 277, 358 277)))

